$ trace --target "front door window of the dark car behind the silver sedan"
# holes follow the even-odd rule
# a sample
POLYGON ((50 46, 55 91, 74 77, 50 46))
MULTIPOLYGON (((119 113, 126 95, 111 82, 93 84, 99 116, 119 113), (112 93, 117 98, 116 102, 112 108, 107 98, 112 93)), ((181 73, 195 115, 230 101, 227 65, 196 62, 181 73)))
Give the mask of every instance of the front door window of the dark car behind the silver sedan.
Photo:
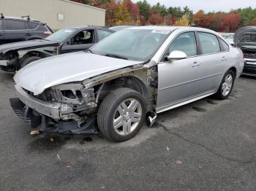
POLYGON ((80 31, 72 37, 70 44, 91 44, 94 43, 94 30, 80 31))

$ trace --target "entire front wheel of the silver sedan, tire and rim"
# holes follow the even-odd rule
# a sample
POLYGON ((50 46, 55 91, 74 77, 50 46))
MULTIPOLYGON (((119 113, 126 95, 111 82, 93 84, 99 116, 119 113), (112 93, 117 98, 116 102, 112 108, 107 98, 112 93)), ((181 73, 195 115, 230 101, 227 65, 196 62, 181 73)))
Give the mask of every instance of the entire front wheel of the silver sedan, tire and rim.
POLYGON ((123 87, 113 90, 102 101, 97 123, 103 136, 120 142, 132 139, 139 132, 145 118, 146 104, 142 95, 123 87))

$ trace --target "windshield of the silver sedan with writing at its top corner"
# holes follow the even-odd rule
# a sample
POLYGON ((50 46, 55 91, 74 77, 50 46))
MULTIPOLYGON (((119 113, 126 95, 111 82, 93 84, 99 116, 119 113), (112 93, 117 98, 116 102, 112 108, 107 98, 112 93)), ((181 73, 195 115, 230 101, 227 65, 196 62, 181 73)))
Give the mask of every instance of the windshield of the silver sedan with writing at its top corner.
POLYGON ((131 61, 148 61, 169 36, 170 31, 124 29, 111 34, 91 52, 131 61))

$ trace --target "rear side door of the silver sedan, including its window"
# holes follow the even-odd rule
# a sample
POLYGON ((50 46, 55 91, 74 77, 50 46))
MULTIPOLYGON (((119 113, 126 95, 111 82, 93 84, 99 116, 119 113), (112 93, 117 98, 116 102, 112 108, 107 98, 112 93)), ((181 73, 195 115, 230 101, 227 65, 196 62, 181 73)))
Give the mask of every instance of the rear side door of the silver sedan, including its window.
POLYGON ((223 73, 227 55, 222 52, 216 35, 197 32, 200 44, 200 93, 217 90, 223 73))

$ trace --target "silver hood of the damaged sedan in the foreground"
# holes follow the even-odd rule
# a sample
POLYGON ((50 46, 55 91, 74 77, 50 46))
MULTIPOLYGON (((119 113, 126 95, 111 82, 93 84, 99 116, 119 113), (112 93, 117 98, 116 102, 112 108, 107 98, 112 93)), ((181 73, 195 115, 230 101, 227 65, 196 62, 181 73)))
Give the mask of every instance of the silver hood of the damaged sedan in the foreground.
POLYGON ((89 52, 74 52, 44 58, 30 63, 15 74, 15 82, 39 95, 46 88, 67 82, 78 82, 108 71, 122 69, 141 63, 95 55, 89 52))

